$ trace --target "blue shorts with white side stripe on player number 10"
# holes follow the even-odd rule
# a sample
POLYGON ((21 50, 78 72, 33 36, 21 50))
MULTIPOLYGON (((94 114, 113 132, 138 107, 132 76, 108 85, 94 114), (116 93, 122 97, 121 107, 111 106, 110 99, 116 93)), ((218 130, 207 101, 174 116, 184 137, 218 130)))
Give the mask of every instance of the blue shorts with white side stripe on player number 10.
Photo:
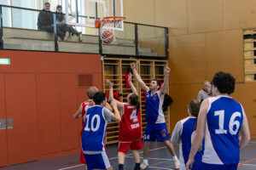
POLYGON ((106 151, 102 151, 100 154, 84 154, 86 160, 87 169, 107 169, 110 167, 108 155, 106 151))

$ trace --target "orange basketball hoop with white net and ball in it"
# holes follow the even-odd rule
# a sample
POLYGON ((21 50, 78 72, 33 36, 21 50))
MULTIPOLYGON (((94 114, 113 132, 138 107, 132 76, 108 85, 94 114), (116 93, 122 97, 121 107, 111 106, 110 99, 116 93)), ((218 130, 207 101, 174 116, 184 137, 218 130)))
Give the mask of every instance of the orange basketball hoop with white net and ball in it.
POLYGON ((104 43, 113 43, 115 28, 119 28, 125 20, 123 16, 108 16, 95 21, 95 27, 101 28, 101 39, 104 43))

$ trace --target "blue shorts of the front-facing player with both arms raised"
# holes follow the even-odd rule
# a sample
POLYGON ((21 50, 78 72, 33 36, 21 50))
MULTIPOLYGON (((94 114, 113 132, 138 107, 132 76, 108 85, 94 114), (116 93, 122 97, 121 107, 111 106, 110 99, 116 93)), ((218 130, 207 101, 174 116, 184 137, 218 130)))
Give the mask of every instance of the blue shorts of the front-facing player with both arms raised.
POLYGON ((155 141, 162 142, 164 140, 169 140, 166 123, 155 123, 148 124, 145 129, 144 141, 155 141))

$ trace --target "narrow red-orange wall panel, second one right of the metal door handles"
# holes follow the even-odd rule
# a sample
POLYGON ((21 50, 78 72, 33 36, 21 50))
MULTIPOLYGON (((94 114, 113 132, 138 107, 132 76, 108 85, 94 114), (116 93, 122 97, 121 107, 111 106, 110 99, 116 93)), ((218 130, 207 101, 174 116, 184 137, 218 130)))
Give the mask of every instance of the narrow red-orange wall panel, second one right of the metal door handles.
POLYGON ((38 123, 43 154, 61 151, 61 108, 59 77, 41 74, 38 77, 38 123))

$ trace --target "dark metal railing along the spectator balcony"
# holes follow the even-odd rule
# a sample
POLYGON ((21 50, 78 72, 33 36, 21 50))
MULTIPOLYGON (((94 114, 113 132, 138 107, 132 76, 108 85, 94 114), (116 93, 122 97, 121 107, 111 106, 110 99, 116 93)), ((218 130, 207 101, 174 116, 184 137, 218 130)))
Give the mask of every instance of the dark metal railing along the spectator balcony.
MULTIPOLYGON (((9 5, 2 5, 0 4, 0 49, 15 49, 15 48, 4 48, 4 31, 3 31, 3 8, 16 8, 16 9, 21 9, 21 10, 28 10, 28 11, 35 11, 35 12, 41 12, 42 10, 38 10, 38 9, 33 9, 33 8, 21 8, 21 7, 15 7, 15 6, 9 6, 9 5)), ((47 11, 44 11, 44 12, 47 12, 47 11)), ((54 51, 55 52, 61 52, 59 50, 59 43, 58 43, 58 36, 57 36, 57 23, 56 23, 56 16, 57 16, 57 13, 56 12, 48 12, 48 13, 52 13, 53 14, 53 18, 54 18, 54 35, 55 35, 55 38, 54 38, 54 51)), ((79 17, 81 18, 88 18, 87 16, 84 16, 84 15, 78 15, 79 17)), ((90 17, 90 18, 97 18, 96 17, 90 17)), ((157 59, 166 59, 168 58, 169 56, 169 52, 168 52, 168 28, 167 27, 163 27, 163 26, 150 26, 150 25, 145 25, 145 24, 138 24, 138 23, 133 23, 133 22, 124 22, 125 24, 130 24, 130 25, 133 25, 134 26, 134 43, 135 43, 135 54, 128 54, 128 55, 124 55, 124 54, 104 54, 104 51, 102 50, 102 46, 104 45, 104 43, 102 43, 102 40, 101 40, 101 31, 99 30, 98 33, 97 33, 97 36, 98 36, 98 39, 99 39, 99 47, 98 47, 98 52, 97 53, 93 53, 93 54, 101 54, 101 55, 106 55, 106 56, 123 56, 123 57, 130 57, 130 58, 150 58, 150 59, 153 59, 153 58, 157 58, 157 59), (148 27, 148 29, 164 29, 164 34, 161 36, 161 38, 163 39, 163 42, 160 42, 162 44, 162 46, 164 47, 161 47, 161 48, 164 48, 164 52, 162 52, 162 55, 160 56, 153 56, 153 57, 150 57, 148 55, 143 55, 143 54, 140 54, 140 48, 139 48, 139 45, 140 45, 140 42, 143 42, 143 38, 140 38, 140 32, 138 31, 138 28, 139 27, 148 27)), ((151 38, 151 39, 154 39, 154 38, 151 38)), ((152 42, 154 42, 154 40, 152 40, 152 42)), ((147 47, 144 47, 144 48, 147 48, 147 47)), ((23 50, 23 49, 19 49, 19 50, 23 50)), ((42 50, 33 50, 33 51, 42 51, 42 50)), ((44 51, 47 51, 47 50, 44 50, 44 51)), ((71 52, 73 53, 73 52, 71 52)), ((76 53, 76 52, 74 52, 76 53)), ((90 54, 90 53, 88 53, 90 54)))

